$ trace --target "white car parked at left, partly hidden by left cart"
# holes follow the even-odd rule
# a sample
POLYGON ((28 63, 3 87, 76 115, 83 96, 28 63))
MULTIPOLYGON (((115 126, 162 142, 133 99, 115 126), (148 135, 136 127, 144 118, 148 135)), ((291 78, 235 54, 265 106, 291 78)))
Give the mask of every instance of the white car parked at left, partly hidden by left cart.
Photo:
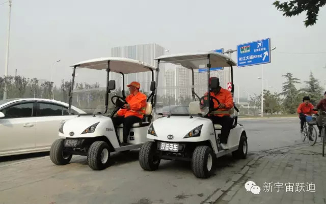
POLYGON ((85 113, 49 99, 0 100, 0 156, 48 152, 62 123, 85 113))

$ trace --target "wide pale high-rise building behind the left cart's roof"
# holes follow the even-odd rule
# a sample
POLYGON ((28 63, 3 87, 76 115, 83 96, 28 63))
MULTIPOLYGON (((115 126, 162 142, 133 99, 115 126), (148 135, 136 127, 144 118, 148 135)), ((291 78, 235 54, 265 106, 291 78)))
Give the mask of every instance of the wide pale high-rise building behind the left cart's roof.
MULTIPOLYGON (((165 48, 155 43, 111 48, 111 56, 113 57, 125 57, 133 60, 139 60, 149 65, 152 65, 154 67, 156 67, 156 62, 154 61, 154 59, 158 56, 164 55, 164 53, 165 53, 165 48)), ((160 86, 164 85, 165 83, 164 75, 165 75, 165 66, 164 64, 160 64, 160 72, 159 72, 159 79, 158 79, 158 84, 160 86)), ((154 73, 154 77, 156 77, 155 73, 154 73)), ((110 76, 110 80, 111 79, 116 80, 117 89, 122 89, 121 74, 112 73, 110 76)), ((126 75, 125 84, 130 83, 131 81, 140 82, 141 90, 150 93, 150 83, 152 81, 151 72, 126 75)))

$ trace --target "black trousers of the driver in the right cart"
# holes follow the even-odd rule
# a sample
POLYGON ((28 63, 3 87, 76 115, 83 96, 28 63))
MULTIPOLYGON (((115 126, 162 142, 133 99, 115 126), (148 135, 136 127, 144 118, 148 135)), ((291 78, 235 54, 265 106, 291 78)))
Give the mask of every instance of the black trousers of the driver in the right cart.
POLYGON ((228 115, 224 115, 222 117, 211 115, 208 116, 208 118, 212 120, 213 124, 222 125, 220 141, 221 143, 226 144, 232 128, 232 118, 228 115))

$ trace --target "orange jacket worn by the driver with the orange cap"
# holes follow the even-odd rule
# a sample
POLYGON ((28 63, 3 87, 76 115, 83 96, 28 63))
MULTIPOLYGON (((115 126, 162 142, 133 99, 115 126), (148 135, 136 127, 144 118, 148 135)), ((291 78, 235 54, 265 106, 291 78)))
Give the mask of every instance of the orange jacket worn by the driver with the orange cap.
POLYGON ((120 109, 117 114, 126 118, 134 115, 143 119, 146 110, 146 95, 138 92, 136 95, 130 94, 127 96, 126 101, 130 105, 130 110, 120 109))

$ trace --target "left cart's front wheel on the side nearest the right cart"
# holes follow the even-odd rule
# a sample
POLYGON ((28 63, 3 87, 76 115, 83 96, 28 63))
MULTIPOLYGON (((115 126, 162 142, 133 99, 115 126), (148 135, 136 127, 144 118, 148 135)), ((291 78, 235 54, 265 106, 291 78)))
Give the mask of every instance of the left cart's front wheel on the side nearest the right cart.
POLYGON ((110 146, 104 141, 93 142, 88 150, 87 160, 93 170, 105 169, 110 162, 110 146))

